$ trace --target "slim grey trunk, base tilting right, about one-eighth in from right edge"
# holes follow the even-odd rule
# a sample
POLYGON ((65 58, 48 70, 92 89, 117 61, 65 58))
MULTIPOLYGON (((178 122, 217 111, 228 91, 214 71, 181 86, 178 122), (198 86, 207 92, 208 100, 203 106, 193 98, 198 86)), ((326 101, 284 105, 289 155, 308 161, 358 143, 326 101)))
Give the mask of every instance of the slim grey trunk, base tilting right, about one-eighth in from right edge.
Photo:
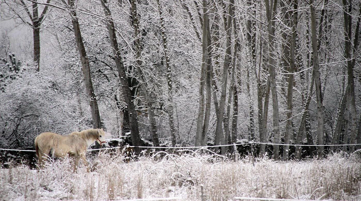
MULTIPOLYGON (((316 97, 317 97, 317 124, 318 124, 318 145, 324 145, 324 119, 323 119, 323 104, 322 104, 322 91, 321 91, 321 78, 319 71, 318 61, 318 45, 317 45, 317 25, 316 25, 316 10, 313 5, 313 0, 310 0, 311 8, 311 39, 312 39, 312 52, 313 52, 313 73, 316 86, 316 97)), ((323 150, 325 147, 318 147, 318 157, 323 157, 323 150)))

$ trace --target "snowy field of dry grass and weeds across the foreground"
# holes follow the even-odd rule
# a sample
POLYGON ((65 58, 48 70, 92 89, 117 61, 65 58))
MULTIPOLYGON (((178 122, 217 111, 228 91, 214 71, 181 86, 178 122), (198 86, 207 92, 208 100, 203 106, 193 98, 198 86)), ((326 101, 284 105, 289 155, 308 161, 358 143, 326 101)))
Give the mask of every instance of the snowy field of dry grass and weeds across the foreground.
POLYGON ((80 166, 74 173, 69 160, 48 162, 41 171, 26 165, 0 169, 0 200, 361 200, 361 158, 355 154, 300 162, 168 154, 124 162, 123 156, 100 153, 89 161, 96 170, 80 166))

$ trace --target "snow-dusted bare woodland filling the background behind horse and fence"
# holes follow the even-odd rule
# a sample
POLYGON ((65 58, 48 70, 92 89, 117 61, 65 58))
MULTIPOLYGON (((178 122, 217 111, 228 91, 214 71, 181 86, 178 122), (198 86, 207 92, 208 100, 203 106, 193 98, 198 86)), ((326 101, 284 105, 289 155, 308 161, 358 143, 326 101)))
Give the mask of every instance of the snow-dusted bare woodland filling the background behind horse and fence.
MULTIPOLYGON (((358 0, 0 6, 26 36, 1 29, 0 148, 91 127, 131 132, 136 146, 361 144, 358 0)), ((274 145, 273 158, 287 160, 288 149, 274 145)))

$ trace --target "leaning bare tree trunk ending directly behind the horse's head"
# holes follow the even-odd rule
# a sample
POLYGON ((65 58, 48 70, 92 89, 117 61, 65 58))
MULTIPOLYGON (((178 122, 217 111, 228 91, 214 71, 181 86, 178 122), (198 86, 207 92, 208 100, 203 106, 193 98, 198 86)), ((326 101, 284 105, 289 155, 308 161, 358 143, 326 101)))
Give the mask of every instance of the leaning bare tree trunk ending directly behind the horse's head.
POLYGON ((84 75, 84 84, 85 89, 87 91, 92 119, 93 119, 93 128, 101 128, 100 114, 98 103, 94 94, 91 73, 90 73, 90 65, 87 57, 87 52, 84 47, 83 38, 81 35, 78 17, 75 12, 74 0, 68 0, 68 4, 70 6, 70 15, 71 15, 71 23, 73 24, 73 30, 75 35, 75 40, 77 41, 77 47, 79 51, 80 60, 82 63, 82 70, 84 75))

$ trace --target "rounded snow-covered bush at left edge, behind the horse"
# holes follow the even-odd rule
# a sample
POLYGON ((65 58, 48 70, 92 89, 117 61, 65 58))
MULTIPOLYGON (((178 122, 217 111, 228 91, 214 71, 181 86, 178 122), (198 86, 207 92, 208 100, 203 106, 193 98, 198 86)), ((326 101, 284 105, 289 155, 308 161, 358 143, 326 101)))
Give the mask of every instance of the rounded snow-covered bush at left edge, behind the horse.
POLYGON ((75 125, 72 100, 58 80, 28 69, 3 79, 0 92, 0 148, 32 147, 41 132, 68 134, 75 125))

